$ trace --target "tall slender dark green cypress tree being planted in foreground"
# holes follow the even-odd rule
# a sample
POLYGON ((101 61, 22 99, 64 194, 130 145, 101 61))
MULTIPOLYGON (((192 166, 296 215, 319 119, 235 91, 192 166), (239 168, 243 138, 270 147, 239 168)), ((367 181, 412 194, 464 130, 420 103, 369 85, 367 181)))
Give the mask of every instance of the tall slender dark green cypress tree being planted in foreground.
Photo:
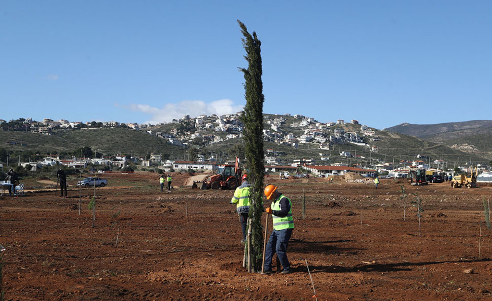
MULTIPOLYGON (((251 266, 253 272, 261 271, 263 256, 263 235, 261 215, 263 212, 263 83, 261 81, 261 42, 256 32, 248 32, 246 26, 237 20, 244 35, 242 46, 246 50, 244 58, 248 68, 239 68, 244 73, 244 155, 248 161, 248 181, 251 184, 249 218, 251 222, 251 266)), ((247 252, 247 251, 246 251, 247 252)))

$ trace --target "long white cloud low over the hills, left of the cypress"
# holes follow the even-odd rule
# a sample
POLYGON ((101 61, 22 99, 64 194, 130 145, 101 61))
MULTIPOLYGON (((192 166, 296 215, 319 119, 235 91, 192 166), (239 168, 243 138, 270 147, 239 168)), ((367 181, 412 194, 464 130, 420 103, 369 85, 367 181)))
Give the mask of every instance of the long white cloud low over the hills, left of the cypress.
POLYGON ((180 119, 185 115, 191 118, 205 114, 207 116, 216 114, 233 114, 243 109, 242 105, 235 105, 230 99, 220 99, 206 103, 202 100, 184 100, 178 103, 167 103, 162 108, 147 104, 131 104, 129 108, 133 111, 143 112, 151 115, 150 120, 145 123, 156 124, 180 119))

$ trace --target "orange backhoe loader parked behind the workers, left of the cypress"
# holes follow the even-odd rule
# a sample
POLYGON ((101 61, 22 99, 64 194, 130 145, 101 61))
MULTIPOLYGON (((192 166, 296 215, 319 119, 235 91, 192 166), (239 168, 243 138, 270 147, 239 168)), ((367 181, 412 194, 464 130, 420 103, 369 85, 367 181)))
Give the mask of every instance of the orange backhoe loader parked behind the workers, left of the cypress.
MULTIPOLYGON (((239 168, 239 159, 236 158, 235 165, 219 165, 217 174, 207 177, 201 183, 201 189, 236 189, 239 186, 241 178, 241 169, 239 168)), ((194 182, 192 188, 197 188, 199 182, 194 182)))

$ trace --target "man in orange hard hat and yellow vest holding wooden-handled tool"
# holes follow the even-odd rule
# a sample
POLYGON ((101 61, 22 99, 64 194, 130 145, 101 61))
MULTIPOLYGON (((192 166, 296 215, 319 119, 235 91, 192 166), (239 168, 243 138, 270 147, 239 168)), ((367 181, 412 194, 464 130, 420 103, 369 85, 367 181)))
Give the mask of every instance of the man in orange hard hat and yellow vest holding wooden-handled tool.
POLYGON ((274 185, 267 185, 264 194, 267 200, 272 200, 270 207, 265 209, 267 214, 271 214, 273 218, 273 232, 266 245, 265 265, 263 274, 272 273, 272 257, 273 248, 277 253, 277 258, 284 268, 282 274, 290 274, 294 271, 291 269, 289 260, 287 259, 287 246, 294 230, 294 218, 292 217, 292 202, 283 194, 277 191, 274 185))

